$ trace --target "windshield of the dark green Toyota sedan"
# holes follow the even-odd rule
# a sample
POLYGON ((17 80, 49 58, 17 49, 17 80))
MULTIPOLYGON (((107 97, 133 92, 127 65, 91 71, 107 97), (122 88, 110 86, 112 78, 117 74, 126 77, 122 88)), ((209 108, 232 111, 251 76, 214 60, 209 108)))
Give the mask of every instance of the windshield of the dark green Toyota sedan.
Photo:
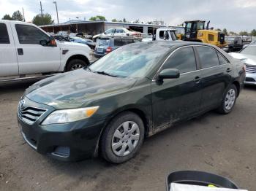
POLYGON ((93 63, 89 70, 108 73, 116 77, 146 77, 166 50, 148 47, 148 44, 135 43, 110 52, 93 63))

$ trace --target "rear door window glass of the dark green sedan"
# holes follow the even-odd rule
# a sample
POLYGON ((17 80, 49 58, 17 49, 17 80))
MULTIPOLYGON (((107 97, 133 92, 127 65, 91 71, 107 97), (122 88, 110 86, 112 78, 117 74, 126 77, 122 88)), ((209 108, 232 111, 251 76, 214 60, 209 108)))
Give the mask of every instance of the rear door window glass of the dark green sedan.
POLYGON ((197 47, 197 52, 203 69, 219 66, 217 52, 211 47, 197 47))

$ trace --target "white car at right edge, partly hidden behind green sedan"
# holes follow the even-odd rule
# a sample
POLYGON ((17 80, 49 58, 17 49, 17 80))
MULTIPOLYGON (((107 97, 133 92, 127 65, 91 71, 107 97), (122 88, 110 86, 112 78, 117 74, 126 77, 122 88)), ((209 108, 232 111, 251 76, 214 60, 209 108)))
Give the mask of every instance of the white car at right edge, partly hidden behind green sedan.
POLYGON ((231 52, 233 58, 237 58, 246 64, 246 85, 256 85, 256 44, 245 47, 241 52, 231 52))

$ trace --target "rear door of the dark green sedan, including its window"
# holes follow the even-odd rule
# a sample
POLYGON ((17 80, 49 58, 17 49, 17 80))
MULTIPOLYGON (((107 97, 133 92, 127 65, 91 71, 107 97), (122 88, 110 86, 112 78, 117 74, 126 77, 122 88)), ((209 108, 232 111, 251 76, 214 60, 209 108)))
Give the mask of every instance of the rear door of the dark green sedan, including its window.
POLYGON ((227 59, 212 47, 197 46, 196 50, 202 68, 201 109, 213 109, 219 106, 224 91, 231 82, 232 67, 227 59))

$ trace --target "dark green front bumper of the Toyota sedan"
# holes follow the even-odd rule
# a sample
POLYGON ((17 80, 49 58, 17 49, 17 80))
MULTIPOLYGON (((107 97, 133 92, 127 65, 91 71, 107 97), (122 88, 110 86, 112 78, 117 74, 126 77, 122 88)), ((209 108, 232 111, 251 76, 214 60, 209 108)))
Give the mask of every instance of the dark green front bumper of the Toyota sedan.
MULTIPOLYGON (((48 114, 45 114, 45 117, 48 114)), ((64 124, 40 125, 45 117, 39 117, 33 124, 28 124, 18 115, 21 135, 30 147, 40 154, 64 161, 83 160, 95 155, 104 127, 103 120, 86 119, 64 124)))

